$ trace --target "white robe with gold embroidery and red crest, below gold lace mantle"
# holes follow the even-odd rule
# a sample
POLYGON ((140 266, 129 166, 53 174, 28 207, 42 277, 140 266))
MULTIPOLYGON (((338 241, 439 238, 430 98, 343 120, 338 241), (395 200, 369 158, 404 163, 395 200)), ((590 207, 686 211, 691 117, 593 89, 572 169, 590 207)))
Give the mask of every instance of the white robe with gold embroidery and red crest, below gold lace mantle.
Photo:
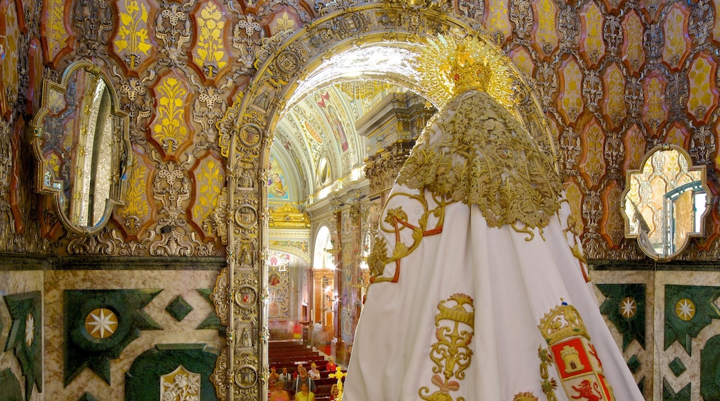
MULTIPOLYGON (((437 126, 433 135, 441 135, 437 126)), ((412 198, 419 194, 396 183, 381 221, 402 208, 406 222, 419 226, 421 213, 436 205, 428 192, 428 206, 421 206, 412 198)), ((507 224, 489 226, 475 204, 446 206, 441 232, 423 236, 400 259, 397 282, 369 286, 343 401, 643 400, 583 277, 586 267, 572 253, 575 237, 564 231, 568 213, 562 203, 542 236, 536 229, 528 241, 528 233, 507 224), (582 321, 567 321, 573 310, 582 321), (552 338, 550 331, 566 323, 569 331, 552 338), (449 346, 454 339, 456 346, 449 346), (552 361, 541 359, 543 350, 552 361), (442 354, 454 351, 469 357, 442 354)), ((431 216, 428 229, 436 221, 431 216)), ((379 235, 392 255, 396 233, 379 235)), ((413 243, 412 230, 398 235, 402 244, 413 243)), ((395 273, 390 262, 380 277, 395 273)))

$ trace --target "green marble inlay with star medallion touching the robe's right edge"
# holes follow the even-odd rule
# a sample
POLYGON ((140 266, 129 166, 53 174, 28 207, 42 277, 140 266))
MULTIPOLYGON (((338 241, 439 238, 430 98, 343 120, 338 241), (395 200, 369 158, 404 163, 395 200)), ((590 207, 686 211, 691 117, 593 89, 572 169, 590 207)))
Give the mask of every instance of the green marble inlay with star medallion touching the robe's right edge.
POLYGON ((623 336, 623 351, 633 340, 645 348, 645 285, 598 284, 606 296, 600 313, 607 315, 623 336))

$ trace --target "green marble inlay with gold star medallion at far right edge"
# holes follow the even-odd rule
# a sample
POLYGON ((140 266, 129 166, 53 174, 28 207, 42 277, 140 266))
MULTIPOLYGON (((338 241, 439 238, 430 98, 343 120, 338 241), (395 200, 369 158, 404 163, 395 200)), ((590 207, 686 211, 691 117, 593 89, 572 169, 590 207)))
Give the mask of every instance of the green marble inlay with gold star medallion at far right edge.
POLYGON ((692 355, 692 338, 720 319, 714 304, 719 296, 720 287, 665 285, 665 349, 678 341, 692 355))

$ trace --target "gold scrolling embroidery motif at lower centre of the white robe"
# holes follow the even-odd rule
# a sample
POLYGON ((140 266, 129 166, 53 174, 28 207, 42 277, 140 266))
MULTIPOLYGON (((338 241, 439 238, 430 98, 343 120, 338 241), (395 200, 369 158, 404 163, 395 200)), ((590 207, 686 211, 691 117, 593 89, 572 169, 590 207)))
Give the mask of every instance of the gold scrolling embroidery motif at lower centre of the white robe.
MULTIPOLYGON (((460 383, 451 380, 455 377, 462 380, 465 369, 472 363, 472 350, 469 348, 474 336, 475 307, 472 298, 465 294, 454 294, 438 304, 438 314, 435 315, 435 336, 438 341, 432 345, 430 359, 435 363, 431 382, 438 387, 432 394, 426 386, 420 387, 418 395, 423 400, 452 401, 451 391, 460 389, 460 383), (448 302, 455 305, 449 306, 448 302), (444 323, 442 321, 451 321, 444 323), (425 393, 426 395, 423 395, 425 393)), ((457 401, 464 401, 464 397, 457 397, 457 401)))

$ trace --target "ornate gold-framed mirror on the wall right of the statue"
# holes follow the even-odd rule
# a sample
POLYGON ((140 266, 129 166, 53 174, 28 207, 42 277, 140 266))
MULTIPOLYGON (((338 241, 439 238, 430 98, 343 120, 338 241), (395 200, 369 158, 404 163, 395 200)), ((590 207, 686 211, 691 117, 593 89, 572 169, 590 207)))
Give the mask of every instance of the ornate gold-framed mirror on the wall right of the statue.
POLYGON ((690 236, 703 235, 711 197, 705 166, 693 167, 690 155, 675 145, 654 147, 631 170, 622 200, 625 235, 656 260, 672 259, 690 236))

